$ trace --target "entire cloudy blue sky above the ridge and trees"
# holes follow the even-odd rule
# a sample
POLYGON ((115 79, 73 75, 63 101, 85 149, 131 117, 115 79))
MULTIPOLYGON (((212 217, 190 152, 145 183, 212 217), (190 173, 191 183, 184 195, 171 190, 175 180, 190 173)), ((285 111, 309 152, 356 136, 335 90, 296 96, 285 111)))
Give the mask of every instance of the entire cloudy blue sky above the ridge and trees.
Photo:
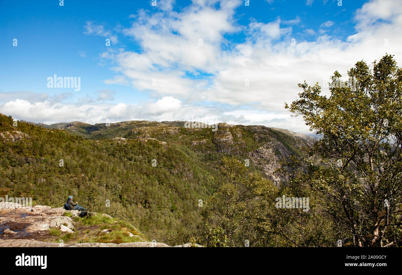
POLYGON ((0 112, 44 123, 194 116, 308 132, 283 109, 297 83, 324 84, 386 52, 400 59, 399 1, 63 4, 0 1, 0 112), (80 77, 80 91, 48 88, 55 74, 80 77))

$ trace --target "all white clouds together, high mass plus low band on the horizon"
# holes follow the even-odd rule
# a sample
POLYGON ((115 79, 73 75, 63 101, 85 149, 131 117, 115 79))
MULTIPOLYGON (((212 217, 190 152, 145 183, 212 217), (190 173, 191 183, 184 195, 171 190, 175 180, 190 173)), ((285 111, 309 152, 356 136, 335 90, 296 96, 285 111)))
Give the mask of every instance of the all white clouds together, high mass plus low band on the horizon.
MULTIPOLYGON (((284 102, 298 98, 298 83, 318 82, 328 94, 327 82, 335 70, 345 75, 359 60, 368 63, 386 52, 402 57, 402 2, 372 0, 355 11, 355 34, 340 40, 326 32, 332 21, 323 22, 318 33, 305 30, 308 41, 295 41, 292 26, 300 18, 271 22, 251 19, 245 26, 236 21, 235 10, 243 1, 193 1, 181 12, 139 10, 130 16, 131 26, 122 33, 135 40, 141 51, 129 47, 107 49, 100 54, 115 75, 105 84, 132 85, 153 100, 137 104, 59 104, 42 95, 41 100, 14 94, 0 106, 6 114, 44 122, 86 120, 88 123, 130 119, 183 120, 214 116, 232 124, 263 124, 308 132, 301 118, 291 118, 284 102), (228 34, 243 33, 240 43, 228 34), (387 39, 387 43, 384 41, 387 39), (19 107, 18 107, 19 106, 19 107), (29 110, 29 111, 28 111, 29 110), (74 112, 72 112, 72 110, 74 112), (62 115, 63 114, 63 115, 62 115), (69 118, 69 119, 67 119, 69 118)), ((92 34, 105 33, 93 27, 92 34)), ((29 95, 27 95, 29 96, 29 95)), ((3 98, 5 96, 3 95, 3 98)), ((0 99, 2 99, 0 94, 0 99)))

